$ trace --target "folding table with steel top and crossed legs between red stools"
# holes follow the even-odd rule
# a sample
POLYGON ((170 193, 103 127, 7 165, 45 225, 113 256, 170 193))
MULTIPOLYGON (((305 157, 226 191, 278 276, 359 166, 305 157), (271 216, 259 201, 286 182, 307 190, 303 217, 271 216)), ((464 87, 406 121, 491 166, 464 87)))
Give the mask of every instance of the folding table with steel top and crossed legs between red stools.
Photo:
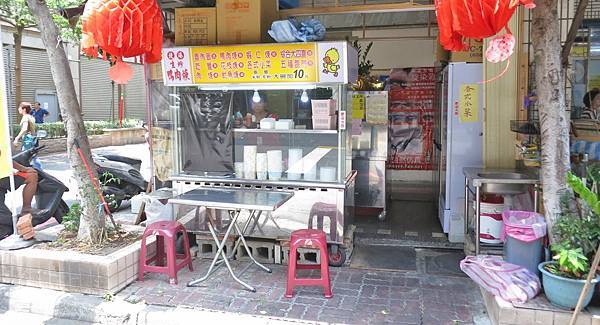
POLYGON ((257 262, 256 259, 252 256, 248 245, 246 244, 246 239, 244 238, 244 233, 248 230, 250 224, 254 221, 256 224, 260 218, 260 215, 263 211, 275 211, 277 208, 282 206, 285 202, 287 202, 293 196, 292 192, 284 192, 284 191, 264 191, 257 189, 241 189, 241 188, 231 188, 231 189, 223 189, 223 188, 197 188, 191 190, 187 193, 178 195, 172 199, 169 199, 169 203, 172 204, 182 204, 182 205, 191 205, 196 207, 196 215, 198 215, 198 211, 200 207, 206 207, 207 209, 217 209, 217 210, 226 210, 229 212, 231 217, 230 223, 225 230, 225 235, 223 236, 223 240, 219 241, 219 238, 215 232, 215 225, 213 224, 213 220, 208 218, 208 229, 210 234, 212 235, 213 240, 218 246, 217 253, 208 268, 206 274, 196 280, 190 281, 187 285, 194 286, 202 281, 207 280, 210 275, 217 270, 219 266, 225 264, 229 273, 233 277, 235 281, 244 286, 244 288, 256 292, 256 289, 246 282, 240 280, 238 276, 233 273, 233 269, 229 264, 229 259, 233 257, 233 254, 237 250, 240 244, 244 245, 246 249, 246 253, 252 260, 246 268, 244 268, 240 273, 243 273, 249 266, 252 264, 256 264, 261 269, 266 272, 271 273, 271 269, 257 262), (246 220, 243 228, 237 225, 238 217, 240 216, 240 212, 242 210, 248 210, 250 215, 246 220), (238 239, 235 242, 235 246, 232 250, 232 255, 227 256, 224 251, 225 244, 229 238, 229 236, 234 234, 235 232, 238 234, 238 239))

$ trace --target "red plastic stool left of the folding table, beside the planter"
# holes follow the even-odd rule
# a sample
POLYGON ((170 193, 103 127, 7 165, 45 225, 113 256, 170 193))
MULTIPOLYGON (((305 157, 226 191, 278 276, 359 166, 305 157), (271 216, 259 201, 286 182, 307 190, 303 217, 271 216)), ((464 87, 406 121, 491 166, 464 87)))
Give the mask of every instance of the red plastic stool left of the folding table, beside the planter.
POLYGON ((177 284, 177 272, 186 265, 192 269, 192 256, 190 255, 190 242, 187 232, 182 224, 177 221, 157 221, 146 227, 142 236, 142 250, 140 251, 140 262, 138 280, 144 281, 144 272, 164 273, 169 276, 169 283, 177 284), (177 254, 175 242, 177 233, 183 233, 184 254, 177 254), (146 237, 156 235, 156 254, 146 259, 146 237), (165 244, 167 265, 165 266, 165 244), (177 263, 177 260, 181 261, 177 263), (154 262, 155 265, 150 265, 154 262))

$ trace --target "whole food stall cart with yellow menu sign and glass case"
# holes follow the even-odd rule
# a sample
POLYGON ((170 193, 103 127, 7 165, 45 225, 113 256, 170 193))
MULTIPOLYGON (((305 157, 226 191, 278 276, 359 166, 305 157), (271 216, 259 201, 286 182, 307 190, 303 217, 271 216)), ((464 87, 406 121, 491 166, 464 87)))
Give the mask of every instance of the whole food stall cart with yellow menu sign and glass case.
POLYGON ((332 264, 343 263, 355 178, 347 88, 357 69, 356 50, 339 41, 164 48, 163 80, 149 84, 157 176, 177 193, 292 191, 248 237, 320 228, 332 264))

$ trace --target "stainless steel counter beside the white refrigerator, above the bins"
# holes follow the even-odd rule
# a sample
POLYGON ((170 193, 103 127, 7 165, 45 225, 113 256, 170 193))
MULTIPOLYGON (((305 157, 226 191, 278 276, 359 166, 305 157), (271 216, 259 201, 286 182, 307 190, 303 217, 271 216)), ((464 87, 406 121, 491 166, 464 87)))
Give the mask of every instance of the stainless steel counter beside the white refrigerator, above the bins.
POLYGON ((529 187, 533 186, 534 192, 534 210, 538 211, 539 185, 540 179, 537 173, 532 171, 522 171, 516 169, 494 169, 494 168, 476 168, 465 167, 463 169, 465 176, 465 247, 467 242, 473 236, 475 246, 475 255, 480 253, 480 232, 481 232, 481 194, 492 193, 499 195, 516 195, 526 193, 529 187), (475 229, 473 233, 469 232, 469 195, 475 196, 475 229))

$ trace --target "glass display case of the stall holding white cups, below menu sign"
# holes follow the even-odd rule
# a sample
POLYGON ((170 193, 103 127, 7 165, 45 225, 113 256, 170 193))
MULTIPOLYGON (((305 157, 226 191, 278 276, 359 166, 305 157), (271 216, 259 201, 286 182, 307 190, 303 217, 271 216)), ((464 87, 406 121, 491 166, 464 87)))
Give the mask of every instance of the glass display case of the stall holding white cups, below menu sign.
POLYGON ((344 88, 257 90, 258 100, 247 90, 173 88, 174 175, 344 183, 351 172, 344 88), (313 114, 313 101, 328 102, 332 115, 313 114))

